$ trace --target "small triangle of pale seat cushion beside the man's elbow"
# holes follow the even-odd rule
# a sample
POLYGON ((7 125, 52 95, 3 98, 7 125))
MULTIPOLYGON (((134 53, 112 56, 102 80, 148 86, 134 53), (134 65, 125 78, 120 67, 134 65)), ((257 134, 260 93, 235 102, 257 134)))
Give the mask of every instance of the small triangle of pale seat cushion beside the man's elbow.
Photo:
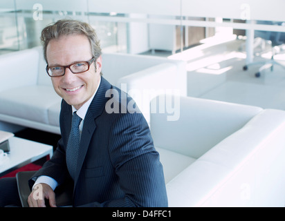
POLYGON ((176 175, 181 173, 187 166, 196 161, 195 158, 187 157, 180 153, 174 153, 173 151, 167 151, 164 148, 156 147, 160 155, 160 162, 163 164, 163 172, 165 175, 165 183, 168 183, 176 175))

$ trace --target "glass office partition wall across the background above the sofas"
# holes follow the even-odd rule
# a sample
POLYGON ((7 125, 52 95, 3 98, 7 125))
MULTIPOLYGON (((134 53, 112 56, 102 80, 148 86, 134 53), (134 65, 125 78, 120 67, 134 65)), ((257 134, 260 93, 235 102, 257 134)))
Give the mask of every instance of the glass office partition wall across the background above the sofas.
MULTIPOLYGON (((269 8, 257 0, 1 0, 0 52, 40 45, 42 28, 57 19, 73 18, 91 23, 107 52, 139 54, 168 51, 170 54, 201 44, 201 40, 235 30, 248 30, 250 19, 280 19, 283 0, 272 0, 269 8), (225 10, 226 8, 226 10, 225 10), (268 11, 262 15, 264 10, 268 11), (214 9, 214 10, 213 10, 214 9), (268 15, 270 14, 270 15, 268 15)), ((267 26, 255 26, 255 29, 267 26)), ((274 27, 281 30, 283 27, 274 27)))

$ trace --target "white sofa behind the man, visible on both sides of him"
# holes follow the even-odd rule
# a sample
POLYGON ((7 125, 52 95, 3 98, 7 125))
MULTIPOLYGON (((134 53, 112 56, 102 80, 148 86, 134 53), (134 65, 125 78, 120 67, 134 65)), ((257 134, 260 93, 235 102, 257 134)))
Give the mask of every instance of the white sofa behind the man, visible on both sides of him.
MULTIPOLYGON (((134 95, 148 122, 149 103, 161 93, 159 89, 187 93, 183 61, 117 53, 105 53, 102 58, 103 76, 134 95)), ((61 98, 45 68, 42 47, 0 56, 0 129, 9 123, 59 134, 61 98)))

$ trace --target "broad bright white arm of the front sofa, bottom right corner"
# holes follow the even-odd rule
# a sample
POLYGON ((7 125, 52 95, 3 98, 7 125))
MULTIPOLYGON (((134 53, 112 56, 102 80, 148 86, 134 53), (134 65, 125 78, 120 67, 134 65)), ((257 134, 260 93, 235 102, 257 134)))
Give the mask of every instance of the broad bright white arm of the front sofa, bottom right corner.
POLYGON ((169 206, 284 206, 285 112, 265 110, 167 184, 169 206))

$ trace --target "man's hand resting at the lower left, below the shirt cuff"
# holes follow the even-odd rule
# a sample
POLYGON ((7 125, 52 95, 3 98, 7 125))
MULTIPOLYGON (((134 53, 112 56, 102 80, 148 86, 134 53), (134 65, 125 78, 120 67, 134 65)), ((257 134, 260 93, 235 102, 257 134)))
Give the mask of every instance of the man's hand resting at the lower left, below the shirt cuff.
POLYGON ((50 207, 56 207, 55 192, 48 184, 37 184, 28 196, 30 207, 46 207, 44 199, 48 199, 50 207))

